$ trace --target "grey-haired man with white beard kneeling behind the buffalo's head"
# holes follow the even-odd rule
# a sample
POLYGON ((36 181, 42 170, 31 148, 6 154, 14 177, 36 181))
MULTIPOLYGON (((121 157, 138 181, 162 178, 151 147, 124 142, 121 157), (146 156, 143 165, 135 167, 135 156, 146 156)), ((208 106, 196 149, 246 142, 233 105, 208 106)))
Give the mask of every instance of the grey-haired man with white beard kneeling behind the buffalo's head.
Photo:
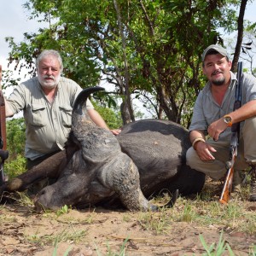
MULTIPOLYGON (((44 50, 36 67, 38 77, 16 86, 6 101, 6 116, 24 112, 28 169, 64 148, 71 130, 73 103, 82 90, 73 80, 61 77, 63 64, 57 51, 44 50)), ((89 100, 86 108, 96 125, 108 129, 89 100)), ((117 135, 119 130, 112 132, 117 135)))

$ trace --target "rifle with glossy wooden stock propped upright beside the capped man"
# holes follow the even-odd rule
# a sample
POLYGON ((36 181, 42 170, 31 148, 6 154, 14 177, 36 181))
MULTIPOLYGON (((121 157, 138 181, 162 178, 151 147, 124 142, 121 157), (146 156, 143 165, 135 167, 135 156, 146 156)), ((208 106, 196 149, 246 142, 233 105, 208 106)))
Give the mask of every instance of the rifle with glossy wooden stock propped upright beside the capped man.
MULTIPOLYGON (((241 107, 241 77, 242 77, 242 62, 239 61, 237 65, 237 84, 236 84, 236 101, 234 103, 233 111, 241 107)), ((231 126, 231 140, 230 140, 230 156, 226 162, 226 176, 224 181, 224 187, 222 189, 219 201, 222 204, 228 204, 230 200, 230 193, 232 189, 232 182, 234 177, 234 165, 236 161, 237 148, 239 144, 240 123, 233 124, 231 126)))

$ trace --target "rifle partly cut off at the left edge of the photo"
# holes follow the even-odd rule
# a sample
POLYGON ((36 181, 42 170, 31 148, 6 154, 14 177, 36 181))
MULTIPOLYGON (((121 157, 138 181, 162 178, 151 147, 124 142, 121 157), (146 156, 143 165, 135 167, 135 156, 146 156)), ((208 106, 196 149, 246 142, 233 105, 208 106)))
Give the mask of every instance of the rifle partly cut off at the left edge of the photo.
POLYGON ((9 151, 6 150, 6 119, 5 119, 5 102, 2 90, 2 66, 0 65, 0 186, 5 183, 5 175, 3 172, 4 160, 9 157, 9 151))

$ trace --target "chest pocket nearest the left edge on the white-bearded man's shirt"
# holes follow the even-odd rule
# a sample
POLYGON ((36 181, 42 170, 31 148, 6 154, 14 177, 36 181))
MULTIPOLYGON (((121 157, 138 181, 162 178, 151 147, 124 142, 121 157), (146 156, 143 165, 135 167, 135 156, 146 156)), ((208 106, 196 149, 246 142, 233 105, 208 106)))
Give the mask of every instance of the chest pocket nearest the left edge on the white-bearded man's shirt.
POLYGON ((44 105, 32 104, 28 114, 31 125, 44 126, 48 121, 47 110, 44 105))

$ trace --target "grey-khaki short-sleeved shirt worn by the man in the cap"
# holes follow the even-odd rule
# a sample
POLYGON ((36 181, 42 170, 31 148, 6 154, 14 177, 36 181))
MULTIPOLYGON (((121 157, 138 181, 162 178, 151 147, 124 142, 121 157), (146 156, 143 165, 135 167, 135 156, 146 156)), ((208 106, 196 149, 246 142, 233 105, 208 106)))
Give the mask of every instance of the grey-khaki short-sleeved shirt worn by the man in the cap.
MULTIPOLYGON (((189 131, 201 130, 205 131, 207 135, 207 128, 214 121, 220 119, 225 114, 233 112, 234 102, 236 100, 236 75, 231 73, 231 81, 229 89, 226 91, 224 100, 221 106, 214 101, 211 92, 211 84, 207 85, 201 90, 193 110, 193 117, 189 131)), ((256 79, 247 73, 243 73, 241 79, 241 105, 256 100, 256 79)), ((241 128, 244 122, 241 122, 241 128)), ((231 128, 228 127, 219 138, 223 141, 230 141, 231 128)))

